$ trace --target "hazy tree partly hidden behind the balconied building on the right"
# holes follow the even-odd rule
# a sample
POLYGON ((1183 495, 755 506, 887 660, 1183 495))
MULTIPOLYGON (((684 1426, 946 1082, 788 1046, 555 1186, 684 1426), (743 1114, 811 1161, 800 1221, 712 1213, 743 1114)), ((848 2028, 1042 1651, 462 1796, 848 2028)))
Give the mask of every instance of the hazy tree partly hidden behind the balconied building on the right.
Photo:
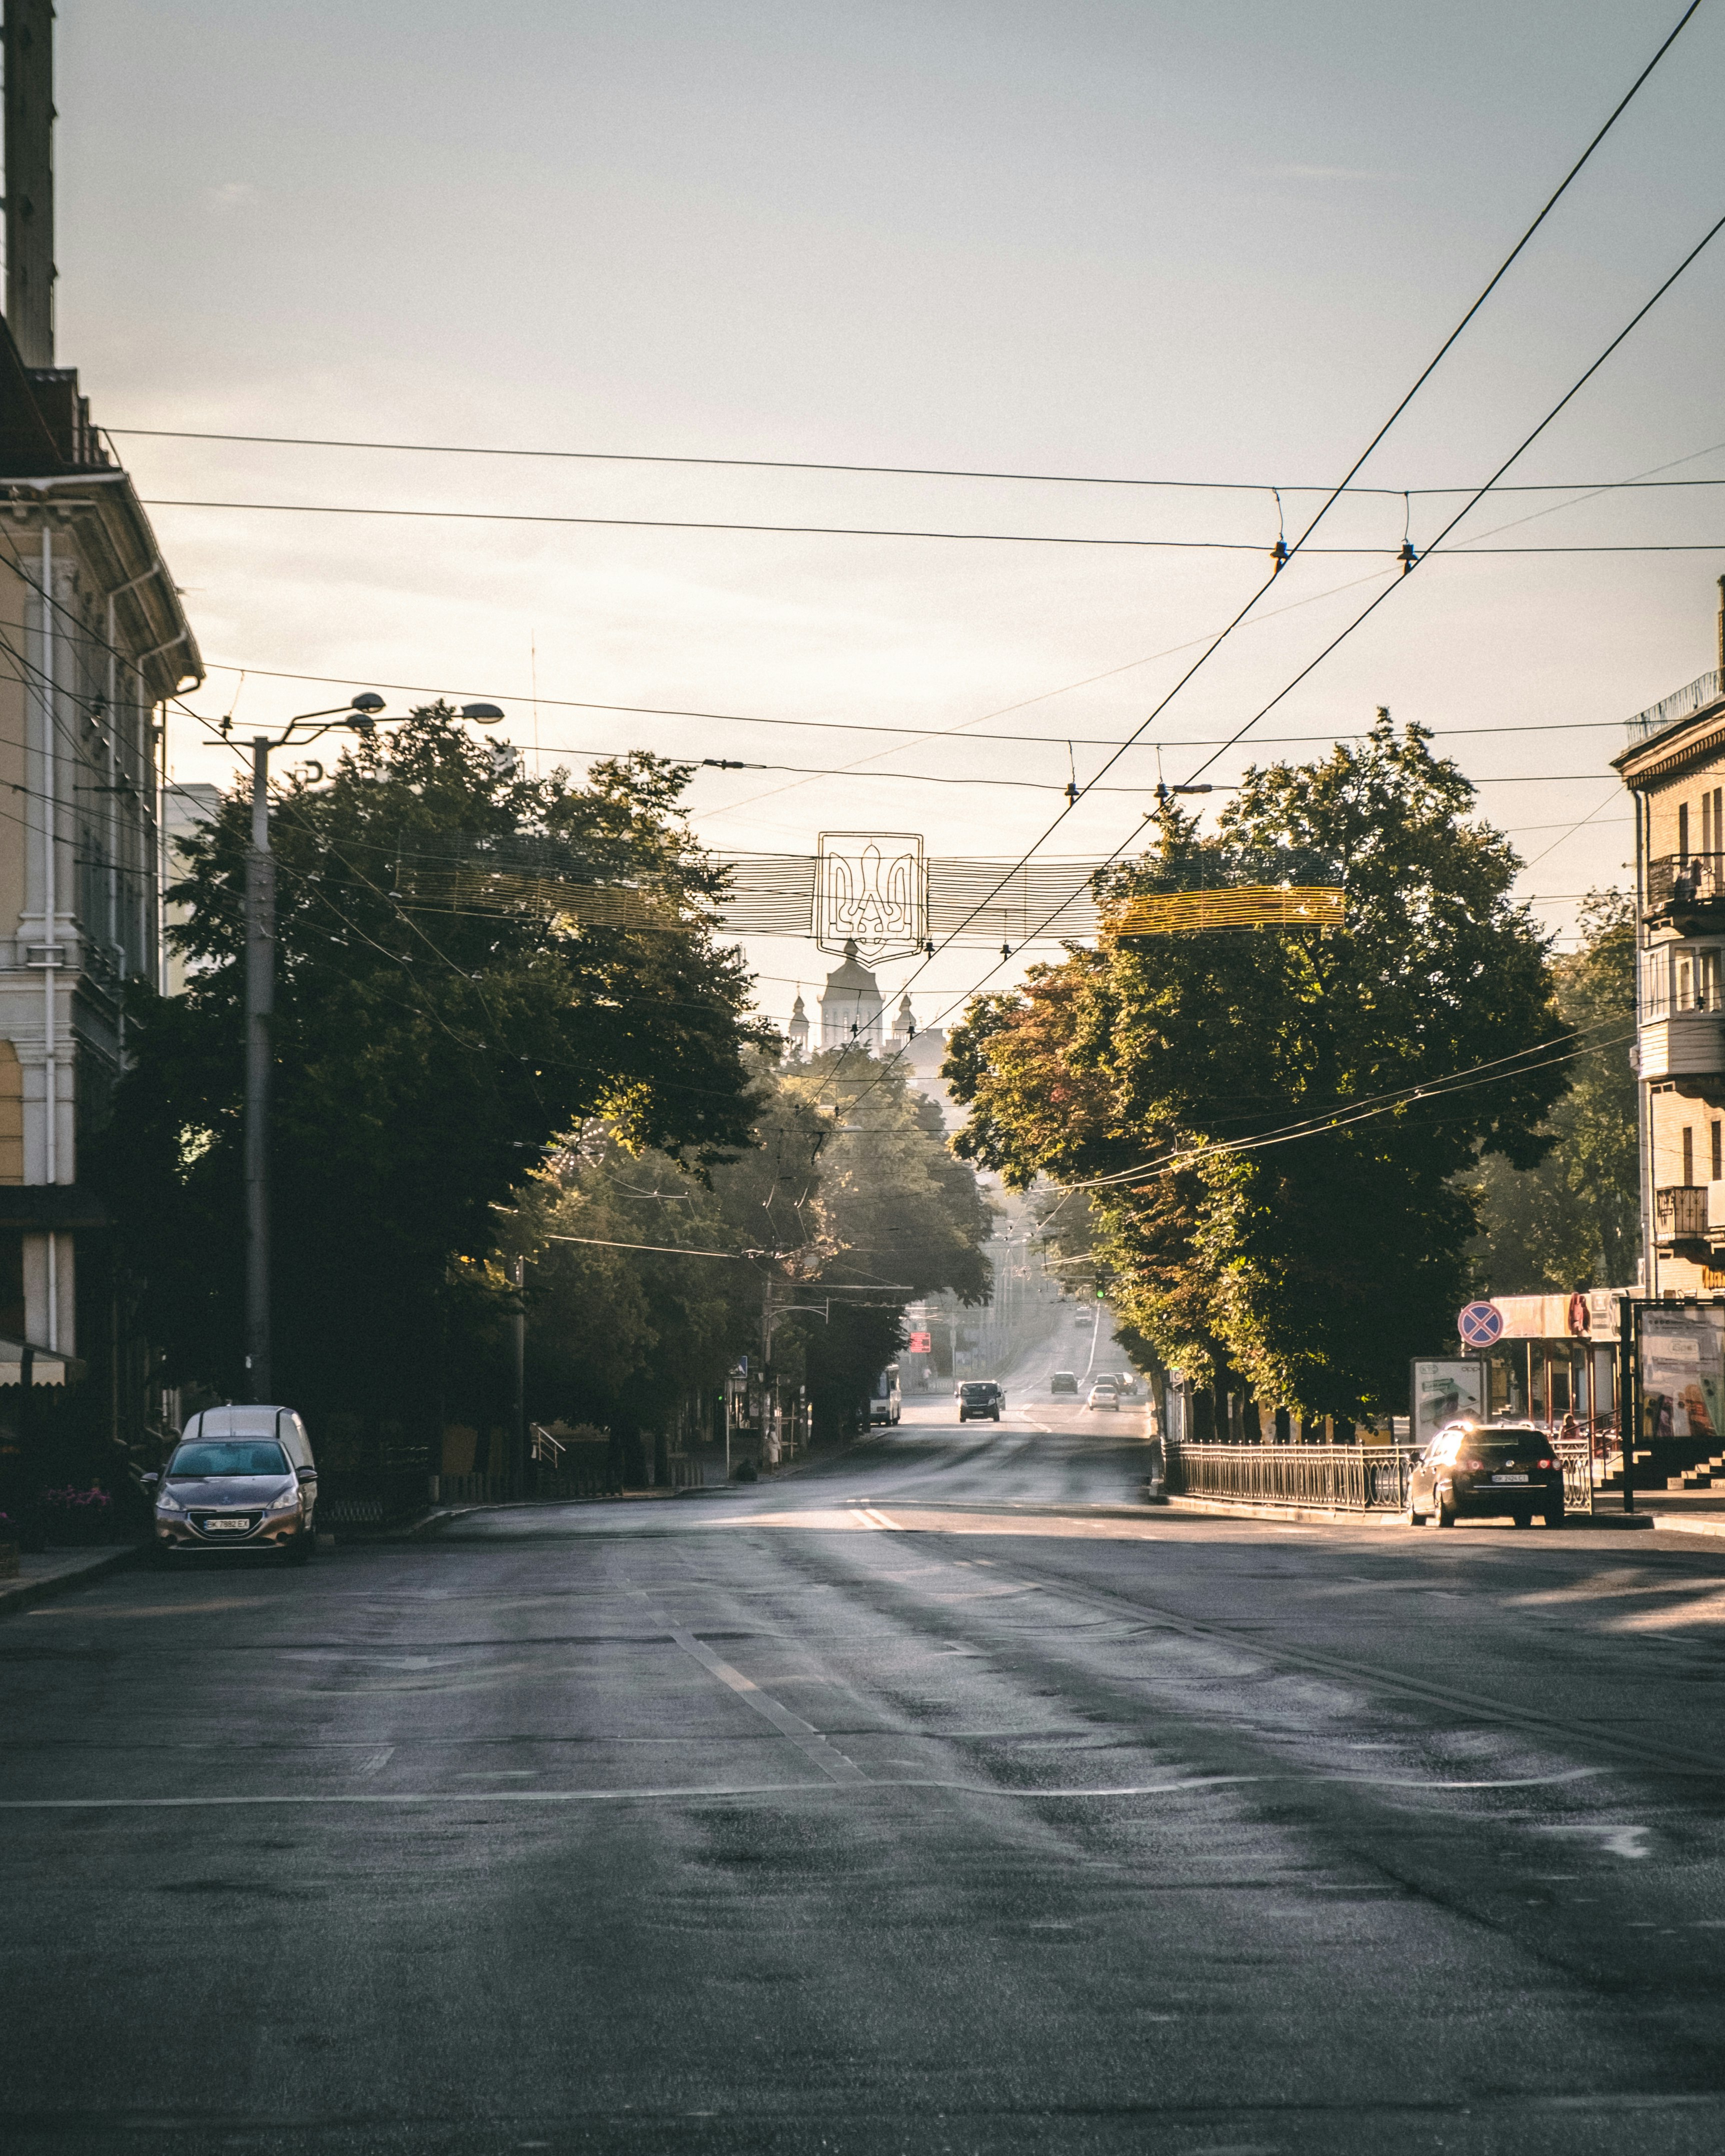
POLYGON ((1468 1179, 1479 1218, 1471 1244, 1484 1294, 1622 1287, 1641 1255, 1634 1069, 1634 899, 1593 890, 1581 949, 1552 959, 1557 1005, 1585 1052, 1546 1121, 1550 1151, 1533 1169, 1479 1162, 1468 1179))

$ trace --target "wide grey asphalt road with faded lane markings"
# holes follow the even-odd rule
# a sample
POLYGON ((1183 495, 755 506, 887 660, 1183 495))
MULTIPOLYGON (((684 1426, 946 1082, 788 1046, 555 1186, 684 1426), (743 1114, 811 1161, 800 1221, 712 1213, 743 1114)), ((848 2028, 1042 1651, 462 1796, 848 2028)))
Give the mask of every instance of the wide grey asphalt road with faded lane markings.
POLYGON ((1725 1548, 951 1412, 0 1626, 6 2147, 1725 2147, 1725 1548))

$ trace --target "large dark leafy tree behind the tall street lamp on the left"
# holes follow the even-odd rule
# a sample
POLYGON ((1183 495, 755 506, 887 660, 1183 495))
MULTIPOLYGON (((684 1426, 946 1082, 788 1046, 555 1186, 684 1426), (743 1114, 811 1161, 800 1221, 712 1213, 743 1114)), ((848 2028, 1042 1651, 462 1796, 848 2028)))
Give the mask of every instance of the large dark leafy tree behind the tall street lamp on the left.
MULTIPOLYGON (((276 1382, 313 1414, 433 1427, 485 1328, 459 1261, 496 1248, 496 1207, 561 1132, 604 1112, 696 1166, 748 1143, 765 1028, 714 942, 690 768, 513 765, 433 705, 272 811, 276 1382), (591 895, 619 886, 606 925, 591 895)), ((237 793, 190 841, 192 979, 142 1015, 101 1166, 170 1378, 242 1397, 246 841, 237 793)))

